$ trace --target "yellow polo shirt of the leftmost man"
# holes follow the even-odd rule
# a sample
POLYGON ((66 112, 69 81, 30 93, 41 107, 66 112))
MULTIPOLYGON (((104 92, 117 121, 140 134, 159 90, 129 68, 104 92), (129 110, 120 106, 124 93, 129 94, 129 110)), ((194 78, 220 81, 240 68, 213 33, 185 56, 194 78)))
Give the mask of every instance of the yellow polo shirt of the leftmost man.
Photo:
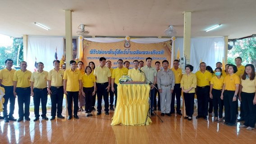
POLYGON ((13 86, 14 85, 14 72, 15 69, 9 71, 7 68, 0 70, 0 79, 2 80, 2 85, 13 86))

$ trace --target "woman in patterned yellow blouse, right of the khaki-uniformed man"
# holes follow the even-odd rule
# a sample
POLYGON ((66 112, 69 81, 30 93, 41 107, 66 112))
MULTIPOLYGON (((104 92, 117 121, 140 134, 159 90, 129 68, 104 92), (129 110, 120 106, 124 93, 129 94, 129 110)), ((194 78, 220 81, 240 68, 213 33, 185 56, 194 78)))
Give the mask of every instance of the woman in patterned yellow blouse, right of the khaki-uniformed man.
POLYGON ((185 67, 185 72, 180 81, 180 87, 183 91, 184 103, 186 106, 186 117, 188 121, 192 120, 192 115, 194 113, 194 99, 195 99, 195 88, 197 87, 197 76, 192 73, 194 67, 192 65, 187 65, 185 67))

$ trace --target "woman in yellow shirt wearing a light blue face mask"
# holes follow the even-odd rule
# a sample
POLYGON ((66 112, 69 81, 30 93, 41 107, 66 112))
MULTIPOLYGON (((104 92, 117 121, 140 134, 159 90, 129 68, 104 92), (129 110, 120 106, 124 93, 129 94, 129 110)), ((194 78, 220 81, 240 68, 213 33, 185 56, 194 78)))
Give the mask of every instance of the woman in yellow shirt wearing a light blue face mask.
POLYGON ((222 69, 217 67, 215 68, 215 75, 210 81, 210 99, 212 99, 213 108, 214 108, 214 120, 213 121, 222 121, 223 115, 223 100, 220 99, 221 91, 223 88, 224 77, 222 76, 222 69), (218 120, 218 109, 219 109, 219 120, 218 120))

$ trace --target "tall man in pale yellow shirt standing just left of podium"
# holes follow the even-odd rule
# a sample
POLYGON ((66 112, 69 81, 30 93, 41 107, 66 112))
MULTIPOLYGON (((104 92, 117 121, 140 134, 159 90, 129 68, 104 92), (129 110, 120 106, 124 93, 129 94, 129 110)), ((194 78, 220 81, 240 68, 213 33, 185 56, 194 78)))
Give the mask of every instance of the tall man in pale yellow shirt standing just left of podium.
MULTIPOLYGON (((111 85, 111 72, 108 67, 105 66, 106 58, 100 58, 100 65, 95 67, 94 76, 96 77, 96 85, 97 85, 97 115, 101 115, 101 102, 102 96, 105 103, 105 114, 109 115, 109 91, 111 85)), ((123 63, 122 63, 123 64, 123 63)), ((115 96, 116 99, 116 96, 115 96)))

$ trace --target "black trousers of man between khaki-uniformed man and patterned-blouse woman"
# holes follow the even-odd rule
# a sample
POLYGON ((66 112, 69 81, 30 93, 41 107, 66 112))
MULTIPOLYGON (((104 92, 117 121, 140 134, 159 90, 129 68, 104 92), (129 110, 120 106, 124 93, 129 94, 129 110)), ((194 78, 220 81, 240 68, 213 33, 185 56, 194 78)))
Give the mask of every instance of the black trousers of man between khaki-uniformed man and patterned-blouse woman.
MULTIPOLYGON (((176 107, 176 111, 177 112, 181 112, 180 110, 180 96, 181 96, 181 88, 180 88, 180 84, 175 84, 174 85, 174 91, 172 93, 172 101, 171 101, 171 112, 175 112, 175 108, 174 108, 174 102, 175 102, 175 95, 176 95, 176 100, 177 100, 177 107, 176 107)), ((194 100, 193 100, 194 102, 194 100)))

